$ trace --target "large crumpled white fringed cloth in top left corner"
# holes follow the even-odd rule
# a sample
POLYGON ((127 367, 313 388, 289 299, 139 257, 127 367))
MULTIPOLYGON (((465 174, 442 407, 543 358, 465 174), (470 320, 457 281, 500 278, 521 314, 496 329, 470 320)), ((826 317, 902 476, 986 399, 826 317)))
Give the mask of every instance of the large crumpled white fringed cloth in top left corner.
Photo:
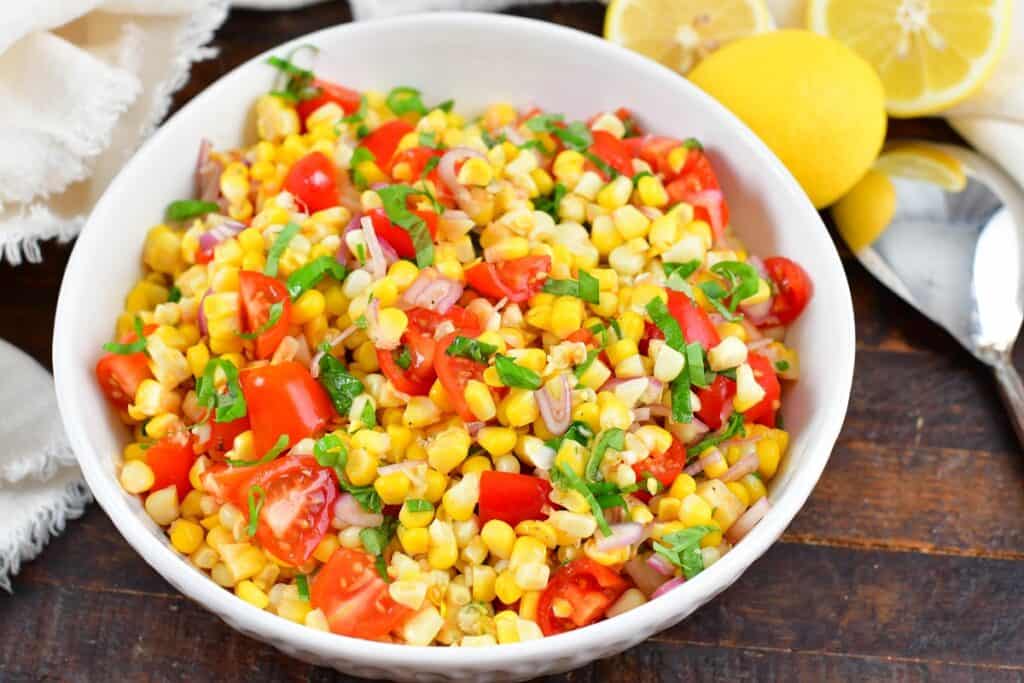
POLYGON ((0 258, 78 233, 226 14, 227 0, 0 3, 0 258))

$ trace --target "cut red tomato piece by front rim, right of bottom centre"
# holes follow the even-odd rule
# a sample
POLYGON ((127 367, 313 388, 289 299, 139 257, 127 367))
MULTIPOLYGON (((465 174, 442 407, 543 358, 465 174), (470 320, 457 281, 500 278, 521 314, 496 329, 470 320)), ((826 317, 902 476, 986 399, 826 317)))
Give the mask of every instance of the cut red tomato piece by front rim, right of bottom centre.
POLYGON ((618 599, 629 582, 620 574, 589 557, 572 560, 555 571, 537 604, 537 621, 545 636, 565 633, 589 626, 598 621, 608 607, 618 599), (572 605, 568 617, 556 616, 553 604, 556 598, 572 605))

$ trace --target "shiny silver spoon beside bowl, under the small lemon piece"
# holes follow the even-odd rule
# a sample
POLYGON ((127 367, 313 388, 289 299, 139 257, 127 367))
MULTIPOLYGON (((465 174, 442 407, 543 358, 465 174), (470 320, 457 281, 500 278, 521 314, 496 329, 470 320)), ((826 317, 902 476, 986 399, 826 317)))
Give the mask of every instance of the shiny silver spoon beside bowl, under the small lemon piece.
POLYGON ((1010 356, 1024 317, 1024 191, 969 150, 933 146, 961 161, 967 186, 950 193, 893 177, 892 222, 856 256, 992 368, 1024 443, 1024 383, 1010 356))

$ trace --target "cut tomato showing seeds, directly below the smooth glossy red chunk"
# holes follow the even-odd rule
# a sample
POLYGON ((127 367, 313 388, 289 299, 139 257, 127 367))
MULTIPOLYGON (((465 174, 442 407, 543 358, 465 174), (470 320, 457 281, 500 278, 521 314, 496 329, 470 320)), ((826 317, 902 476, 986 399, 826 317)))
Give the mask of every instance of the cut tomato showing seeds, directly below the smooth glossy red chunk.
POLYGON ((298 566, 309 559, 331 527, 338 498, 335 474, 309 457, 285 456, 255 469, 249 485, 236 492, 236 505, 248 509, 249 492, 254 486, 262 488, 256 540, 278 559, 298 566))

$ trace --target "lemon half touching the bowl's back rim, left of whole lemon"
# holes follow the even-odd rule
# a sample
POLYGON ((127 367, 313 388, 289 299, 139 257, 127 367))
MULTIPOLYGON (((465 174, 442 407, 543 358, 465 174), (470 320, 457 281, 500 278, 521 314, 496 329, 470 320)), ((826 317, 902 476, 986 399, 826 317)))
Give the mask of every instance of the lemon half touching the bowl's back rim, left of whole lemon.
POLYGON ((775 28, 763 0, 611 0, 604 37, 680 74, 737 38, 775 28))

